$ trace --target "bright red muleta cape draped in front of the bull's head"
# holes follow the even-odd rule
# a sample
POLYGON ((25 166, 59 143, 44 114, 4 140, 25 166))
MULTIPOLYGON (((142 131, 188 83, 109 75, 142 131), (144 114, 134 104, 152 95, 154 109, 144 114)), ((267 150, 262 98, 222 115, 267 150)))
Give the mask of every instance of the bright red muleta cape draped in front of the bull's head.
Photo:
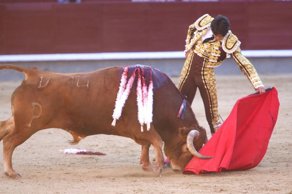
POLYGON ((256 167, 267 151, 279 105, 274 87, 264 94, 253 94, 237 100, 228 118, 199 151, 214 158, 204 160, 194 157, 183 173, 199 174, 256 167))

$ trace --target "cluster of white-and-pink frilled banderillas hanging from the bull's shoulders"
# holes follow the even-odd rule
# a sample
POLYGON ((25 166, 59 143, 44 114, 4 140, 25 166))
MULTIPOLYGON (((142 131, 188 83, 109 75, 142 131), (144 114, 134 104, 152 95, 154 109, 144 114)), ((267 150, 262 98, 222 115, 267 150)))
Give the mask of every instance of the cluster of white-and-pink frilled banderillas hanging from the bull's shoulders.
POLYGON ((136 77, 136 72, 138 74, 137 79, 137 105, 138 105, 138 121, 141 124, 141 131, 143 131, 143 126, 147 125, 147 130, 150 129, 150 123, 152 123, 153 117, 153 81, 152 81, 152 71, 149 71, 149 86, 146 85, 145 72, 143 67, 136 67, 128 80, 128 66, 124 68, 122 74, 119 91, 117 93, 117 98, 115 101, 115 109, 113 110, 111 123, 115 126, 116 120, 119 120, 123 107, 126 100, 130 94, 131 87, 136 77))

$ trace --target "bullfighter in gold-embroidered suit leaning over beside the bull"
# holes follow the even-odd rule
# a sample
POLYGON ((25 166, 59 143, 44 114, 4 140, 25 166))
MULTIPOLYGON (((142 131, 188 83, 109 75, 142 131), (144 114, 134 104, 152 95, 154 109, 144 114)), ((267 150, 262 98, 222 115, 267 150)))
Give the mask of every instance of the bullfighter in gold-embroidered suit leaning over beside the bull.
POLYGON ((255 67, 241 54, 240 41, 230 31, 229 26, 227 17, 219 15, 213 18, 205 14, 189 26, 185 40, 186 60, 181 72, 179 90, 192 104, 199 88, 212 135, 221 126, 214 67, 231 57, 255 90, 260 94, 265 92, 255 67))

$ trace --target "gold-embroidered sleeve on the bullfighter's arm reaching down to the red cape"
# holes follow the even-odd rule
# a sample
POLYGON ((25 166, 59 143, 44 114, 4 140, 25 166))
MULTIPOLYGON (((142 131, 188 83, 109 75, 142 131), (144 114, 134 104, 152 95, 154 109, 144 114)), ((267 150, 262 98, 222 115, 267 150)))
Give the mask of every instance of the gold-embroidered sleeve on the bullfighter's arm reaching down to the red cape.
POLYGON ((253 84, 254 88, 257 89, 259 87, 264 87, 264 84, 260 80, 256 68, 252 63, 245 58, 241 54, 241 50, 237 47, 236 51, 231 53, 231 57, 237 63, 238 67, 242 71, 242 73, 249 79, 249 81, 253 84))

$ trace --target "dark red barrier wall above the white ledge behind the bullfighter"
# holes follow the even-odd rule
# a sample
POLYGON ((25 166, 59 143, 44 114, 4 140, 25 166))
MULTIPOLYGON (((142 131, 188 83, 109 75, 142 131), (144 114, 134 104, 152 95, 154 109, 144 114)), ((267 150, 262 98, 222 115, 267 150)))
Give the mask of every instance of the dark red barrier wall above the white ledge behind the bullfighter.
POLYGON ((292 49, 292 1, 45 1, 0 1, 0 54, 178 51, 205 13, 227 16, 241 49, 292 49))

